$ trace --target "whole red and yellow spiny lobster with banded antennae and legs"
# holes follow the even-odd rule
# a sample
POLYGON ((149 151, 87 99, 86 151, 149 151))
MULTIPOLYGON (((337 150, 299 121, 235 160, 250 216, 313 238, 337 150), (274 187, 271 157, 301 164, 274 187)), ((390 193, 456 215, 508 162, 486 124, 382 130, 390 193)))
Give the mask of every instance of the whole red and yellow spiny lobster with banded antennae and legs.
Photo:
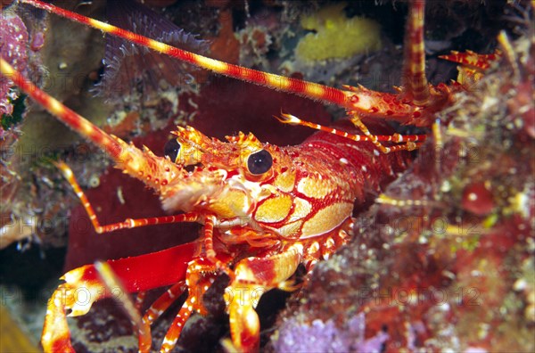
MULTIPOLYGON (((259 349, 259 317, 254 310, 259 296, 270 289, 284 287, 300 263, 310 270, 317 260, 328 257, 347 242, 353 225, 354 204, 363 202, 370 191, 380 192, 396 173, 406 168, 409 158, 403 150, 415 149, 425 137, 391 135, 390 132, 372 135, 361 119, 393 119, 429 127, 435 114, 454 102, 454 94, 465 89, 460 82, 449 86, 432 86, 427 82, 424 1, 410 3, 404 79, 397 94, 375 92, 363 86, 344 86, 346 90, 340 90, 251 70, 185 52, 52 4, 37 0, 21 0, 21 3, 32 4, 206 70, 337 104, 347 110, 350 122, 340 127, 321 127, 282 113, 279 119, 284 123, 323 130, 291 147, 261 143, 254 135, 241 132, 226 137, 228 142, 225 143, 202 135, 193 127, 177 127, 173 132, 176 138, 166 144, 165 157, 159 157, 147 148, 140 150, 104 133, 2 60, 4 76, 57 119, 100 147, 116 168, 159 193, 164 209, 169 213, 185 212, 161 218, 128 218, 101 226, 70 168, 62 162, 56 163, 82 201, 97 233, 178 222, 198 222, 204 226, 200 242, 134 258, 109 260, 106 262, 108 270, 86 265, 65 274, 62 277, 65 283, 48 303, 42 336, 45 351, 73 350, 66 310, 70 310, 70 316, 86 314, 95 300, 110 295, 109 291, 103 291, 103 282, 114 276, 124 283, 128 292, 172 285, 138 320, 140 351, 151 349, 152 322, 188 289, 187 299, 161 346, 162 351, 169 351, 175 346, 187 318, 194 311, 206 313, 202 296, 221 273, 229 277, 225 299, 232 344, 240 351, 259 349), (193 170, 186 169, 191 166, 193 170), (80 289, 89 293, 86 302, 77 301, 76 293, 80 289)), ((485 68, 496 56, 452 53, 445 58, 471 68, 485 68)), ((465 70, 465 75, 471 75, 471 71, 465 70)))

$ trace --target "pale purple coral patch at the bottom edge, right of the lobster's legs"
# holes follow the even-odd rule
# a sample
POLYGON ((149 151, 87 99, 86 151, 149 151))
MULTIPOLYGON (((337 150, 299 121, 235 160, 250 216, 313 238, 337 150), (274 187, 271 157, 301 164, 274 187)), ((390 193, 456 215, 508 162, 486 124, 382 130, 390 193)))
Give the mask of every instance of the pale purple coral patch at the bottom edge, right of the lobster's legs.
POLYGON ((389 335, 378 332, 365 339, 365 329, 364 313, 353 316, 342 328, 333 319, 326 323, 316 319, 310 325, 291 318, 281 325, 273 347, 277 352, 381 352, 389 335))

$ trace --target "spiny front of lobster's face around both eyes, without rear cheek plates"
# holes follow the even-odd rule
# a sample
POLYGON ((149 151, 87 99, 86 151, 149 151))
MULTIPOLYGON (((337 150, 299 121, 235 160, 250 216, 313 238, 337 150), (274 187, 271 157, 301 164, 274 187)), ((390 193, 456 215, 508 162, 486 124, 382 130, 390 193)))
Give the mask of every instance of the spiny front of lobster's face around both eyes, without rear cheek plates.
MULTIPOLYGON (((248 218, 259 200, 276 193, 269 181, 284 170, 287 156, 252 134, 226 136, 227 142, 203 135, 193 127, 177 127, 165 145, 165 160, 177 169, 161 185, 168 211, 215 215, 218 219, 248 218)), ((249 222, 247 222, 249 223, 249 222)))

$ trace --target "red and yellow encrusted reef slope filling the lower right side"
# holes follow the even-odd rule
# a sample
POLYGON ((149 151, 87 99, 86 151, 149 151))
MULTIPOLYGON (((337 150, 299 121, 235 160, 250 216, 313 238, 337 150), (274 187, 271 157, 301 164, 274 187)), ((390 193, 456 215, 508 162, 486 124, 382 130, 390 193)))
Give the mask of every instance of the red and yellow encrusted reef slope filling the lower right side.
MULTIPOLYGON (((529 35, 515 41, 440 115, 413 167, 358 216, 354 240, 317 265, 280 316, 272 349, 288 351, 290 339, 291 350, 309 349, 314 338, 295 335, 333 317, 345 337, 343 323, 358 313, 366 337, 388 333, 386 351, 535 349, 535 141, 519 112, 535 98, 534 45, 529 35)), ((346 341, 340 350, 354 349, 346 341)))

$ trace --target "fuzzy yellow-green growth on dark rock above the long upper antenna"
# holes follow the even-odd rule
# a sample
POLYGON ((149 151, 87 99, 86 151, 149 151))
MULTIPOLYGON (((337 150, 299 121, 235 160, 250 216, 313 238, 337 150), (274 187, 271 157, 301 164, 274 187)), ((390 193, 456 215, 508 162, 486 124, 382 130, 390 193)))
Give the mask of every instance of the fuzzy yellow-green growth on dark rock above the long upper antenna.
POLYGON ((295 49, 305 62, 345 59, 358 53, 381 49, 381 27, 362 17, 348 19, 343 12, 347 4, 325 6, 301 19, 303 29, 314 30, 302 37, 295 49))

